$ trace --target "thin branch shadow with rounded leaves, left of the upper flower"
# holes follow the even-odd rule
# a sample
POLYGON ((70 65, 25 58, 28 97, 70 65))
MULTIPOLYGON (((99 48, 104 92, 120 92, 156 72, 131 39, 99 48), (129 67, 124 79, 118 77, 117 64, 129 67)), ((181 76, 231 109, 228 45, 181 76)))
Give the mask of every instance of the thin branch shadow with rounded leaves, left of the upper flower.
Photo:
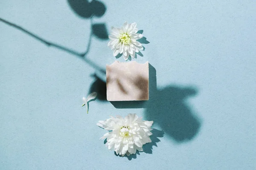
POLYGON ((37 34, 33 33, 32 31, 29 31, 21 26, 16 25, 15 23, 11 23, 7 20, 4 20, 3 18, 0 18, 0 21, 3 23, 6 23, 9 26, 12 26, 13 28, 16 28, 23 33, 33 37, 35 40, 38 40, 39 42, 42 42, 43 44, 54 47, 59 50, 65 51, 67 53, 73 54, 76 57, 79 57, 80 59, 84 60, 89 64, 91 67, 95 68, 97 71, 100 71, 102 73, 105 73, 105 69, 101 68, 99 65, 97 65, 95 62, 91 61, 87 58, 87 54, 89 53, 90 46, 91 46, 91 40, 92 37, 95 36, 99 38, 100 40, 108 40, 108 31, 105 26, 105 23, 93 23, 93 17, 102 17, 103 14, 105 14, 106 6, 104 3, 98 1, 98 0, 92 0, 91 2, 88 2, 88 0, 67 0, 68 4, 70 5, 70 8, 79 16, 84 19, 90 19, 90 34, 89 34, 89 40, 87 44, 87 48, 84 52, 78 52, 71 48, 65 47, 63 45, 59 45, 58 43, 51 42, 49 40, 46 40, 37 34))

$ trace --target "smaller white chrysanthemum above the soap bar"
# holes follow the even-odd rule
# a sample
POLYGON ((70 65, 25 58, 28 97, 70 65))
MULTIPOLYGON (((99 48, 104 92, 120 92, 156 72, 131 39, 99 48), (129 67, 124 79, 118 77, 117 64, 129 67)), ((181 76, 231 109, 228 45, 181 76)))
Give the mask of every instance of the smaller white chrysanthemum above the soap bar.
POLYGON ((127 60, 129 55, 131 58, 134 58, 135 53, 143 50, 142 44, 137 41, 143 35, 137 34, 138 29, 136 25, 136 23, 128 24, 126 21, 122 28, 111 27, 112 33, 108 36, 110 38, 108 47, 113 50, 113 56, 123 54, 124 59, 127 60))

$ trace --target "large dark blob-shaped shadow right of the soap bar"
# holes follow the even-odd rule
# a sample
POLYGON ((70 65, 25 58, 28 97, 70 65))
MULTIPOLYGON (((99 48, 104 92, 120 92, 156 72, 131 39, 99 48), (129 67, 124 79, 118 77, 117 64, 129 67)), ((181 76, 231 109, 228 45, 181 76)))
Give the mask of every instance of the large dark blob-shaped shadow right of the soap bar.
POLYGON ((167 86, 154 92, 145 109, 145 117, 159 125, 175 142, 186 142, 198 133, 201 121, 189 108, 187 97, 195 96, 192 87, 167 86))

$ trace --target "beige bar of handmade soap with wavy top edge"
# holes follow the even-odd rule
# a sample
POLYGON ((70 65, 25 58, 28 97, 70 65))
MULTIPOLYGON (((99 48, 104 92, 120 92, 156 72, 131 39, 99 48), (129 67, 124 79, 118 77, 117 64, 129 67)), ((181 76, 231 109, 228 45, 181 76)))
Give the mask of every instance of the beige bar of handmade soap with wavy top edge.
POLYGON ((118 62, 106 65, 108 101, 148 100, 148 62, 118 62))

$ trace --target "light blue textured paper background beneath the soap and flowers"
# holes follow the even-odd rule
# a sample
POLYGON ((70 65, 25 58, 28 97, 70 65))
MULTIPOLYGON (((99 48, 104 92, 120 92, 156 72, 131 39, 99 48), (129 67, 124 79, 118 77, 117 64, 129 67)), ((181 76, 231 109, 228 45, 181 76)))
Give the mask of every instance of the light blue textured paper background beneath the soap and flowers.
MULTIPOLYGON (((102 3, 105 14, 93 23, 105 23, 109 32, 127 20, 144 30, 150 43, 136 61, 156 69, 157 89, 142 108, 96 100, 86 114, 81 98, 95 69, 0 22, 0 169, 256 169, 256 2, 102 3), (154 121, 157 146, 122 158, 99 140, 105 130, 96 122, 128 113, 154 121)), ((90 19, 66 0, 2 0, 0 17, 50 42, 87 50, 90 19)), ((108 40, 93 36, 90 43, 86 57, 99 67, 116 60, 108 40)))

